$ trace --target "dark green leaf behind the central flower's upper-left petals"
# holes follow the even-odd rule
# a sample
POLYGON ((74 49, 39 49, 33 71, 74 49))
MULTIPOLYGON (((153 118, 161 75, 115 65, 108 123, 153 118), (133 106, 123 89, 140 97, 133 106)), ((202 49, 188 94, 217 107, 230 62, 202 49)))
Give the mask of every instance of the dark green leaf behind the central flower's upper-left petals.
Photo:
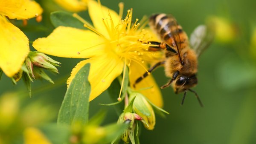
POLYGON ((55 27, 58 26, 69 26, 78 29, 86 29, 84 23, 78 20, 76 17, 73 17, 73 14, 70 12, 57 11, 52 12, 50 15, 52 25, 55 27))

